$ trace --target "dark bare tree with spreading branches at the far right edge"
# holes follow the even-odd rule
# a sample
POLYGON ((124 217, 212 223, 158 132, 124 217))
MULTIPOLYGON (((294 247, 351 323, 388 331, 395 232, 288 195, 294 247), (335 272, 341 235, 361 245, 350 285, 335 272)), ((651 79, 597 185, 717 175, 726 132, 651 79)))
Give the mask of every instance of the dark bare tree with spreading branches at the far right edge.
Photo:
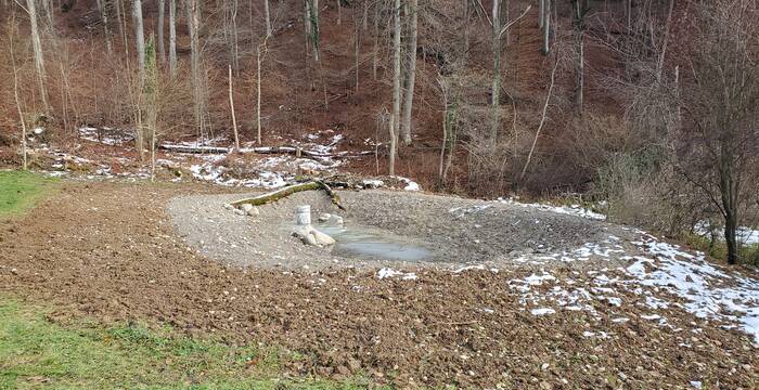
POLYGON ((721 212, 728 262, 738 261, 742 212, 759 198, 759 11, 756 0, 698 5, 680 82, 683 125, 678 168, 721 212))

